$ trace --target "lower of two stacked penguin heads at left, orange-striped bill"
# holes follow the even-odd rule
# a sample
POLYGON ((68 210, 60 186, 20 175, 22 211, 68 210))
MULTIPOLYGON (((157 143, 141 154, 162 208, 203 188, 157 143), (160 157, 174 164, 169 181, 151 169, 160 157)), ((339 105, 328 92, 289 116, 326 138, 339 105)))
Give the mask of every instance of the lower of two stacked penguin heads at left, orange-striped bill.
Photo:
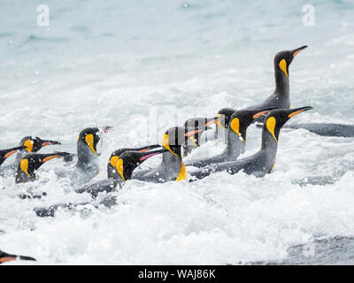
POLYGON ((35 172, 42 164, 50 161, 53 158, 68 156, 67 152, 55 152, 48 154, 28 153, 19 162, 16 172, 16 183, 26 182, 27 180, 35 180, 35 172))

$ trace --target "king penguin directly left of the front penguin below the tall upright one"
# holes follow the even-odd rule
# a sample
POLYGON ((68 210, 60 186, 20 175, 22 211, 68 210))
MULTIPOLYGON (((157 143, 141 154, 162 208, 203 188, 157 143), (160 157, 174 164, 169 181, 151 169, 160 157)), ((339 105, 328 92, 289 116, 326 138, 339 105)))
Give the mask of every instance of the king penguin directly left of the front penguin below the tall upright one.
POLYGON ((231 119, 227 121, 227 148, 218 156, 189 162, 186 163, 186 166, 204 167, 210 164, 235 161, 246 151, 246 132, 248 126, 250 126, 254 119, 258 119, 258 117, 266 114, 271 109, 235 111, 231 119))

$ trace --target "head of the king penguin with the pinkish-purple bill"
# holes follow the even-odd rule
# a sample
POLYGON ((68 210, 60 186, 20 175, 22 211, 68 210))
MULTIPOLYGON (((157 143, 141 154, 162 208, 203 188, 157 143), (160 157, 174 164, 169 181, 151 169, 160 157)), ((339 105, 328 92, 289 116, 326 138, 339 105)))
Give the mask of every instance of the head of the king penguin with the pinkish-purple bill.
POLYGON ((119 179, 126 182, 132 176, 133 171, 137 166, 142 164, 150 157, 169 151, 168 149, 158 149, 152 151, 124 151, 121 153, 115 164, 115 171, 113 172, 113 186, 116 187, 119 179))

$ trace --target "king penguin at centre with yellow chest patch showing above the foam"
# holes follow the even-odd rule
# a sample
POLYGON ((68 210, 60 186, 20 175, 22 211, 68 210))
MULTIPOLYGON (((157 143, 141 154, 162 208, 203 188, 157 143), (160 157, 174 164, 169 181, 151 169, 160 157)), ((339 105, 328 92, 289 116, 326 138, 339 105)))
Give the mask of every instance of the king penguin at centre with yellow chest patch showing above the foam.
MULTIPOLYGON (((206 129, 209 129, 208 127, 206 129)), ((162 154, 162 162, 158 167, 150 170, 142 170, 133 172, 132 179, 165 183, 170 180, 187 180, 186 168, 182 162, 181 146, 190 135, 197 134, 205 130, 205 126, 201 129, 189 129, 181 126, 174 126, 168 129, 163 137, 162 146, 168 152, 162 154)))

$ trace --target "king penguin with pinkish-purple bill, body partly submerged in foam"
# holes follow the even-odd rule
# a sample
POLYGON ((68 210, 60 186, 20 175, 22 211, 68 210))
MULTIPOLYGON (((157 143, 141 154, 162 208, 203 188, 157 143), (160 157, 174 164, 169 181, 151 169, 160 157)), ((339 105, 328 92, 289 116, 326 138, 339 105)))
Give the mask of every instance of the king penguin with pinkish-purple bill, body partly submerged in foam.
MULTIPOLYGON (((168 151, 167 149, 158 149, 158 150, 151 150, 151 151, 131 151, 125 150, 123 151, 118 159, 116 160, 116 164, 114 167, 114 172, 112 172, 112 180, 109 184, 100 184, 99 182, 91 185, 86 186, 85 189, 82 189, 81 193, 87 192, 90 193, 92 196, 97 196, 100 192, 111 193, 113 190, 117 188, 121 188, 125 185, 127 180, 131 179, 132 173, 134 172, 135 168, 142 164, 145 160, 149 159, 150 157, 154 157, 158 154, 164 153, 168 151)), ((37 207, 34 209, 35 214, 38 217, 54 217, 55 212, 58 208, 65 208, 69 210, 75 209, 78 205, 86 205, 89 203, 61 203, 51 205, 50 207, 37 207)), ((107 207, 111 207, 112 205, 116 204, 116 196, 108 194, 100 203, 94 204, 95 207, 98 205, 104 204, 107 207)))

